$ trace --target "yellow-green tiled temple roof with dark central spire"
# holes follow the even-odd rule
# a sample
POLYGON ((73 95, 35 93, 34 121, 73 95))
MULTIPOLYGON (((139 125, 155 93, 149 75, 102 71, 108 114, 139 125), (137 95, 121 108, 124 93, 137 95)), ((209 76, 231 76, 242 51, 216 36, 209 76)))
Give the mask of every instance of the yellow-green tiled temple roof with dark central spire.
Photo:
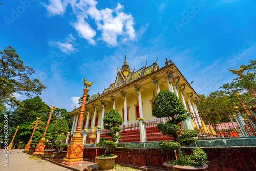
MULTIPOLYGON (((146 65, 147 65, 147 62, 146 62, 146 65)), ((152 73, 153 71, 156 71, 159 68, 157 65, 157 60, 154 63, 152 63, 152 65, 149 67, 146 67, 146 65, 141 69, 139 69, 138 71, 134 72, 135 66, 134 66, 134 70, 133 70, 133 67, 132 69, 130 69, 126 61, 126 50, 125 50, 124 63, 123 63, 122 69, 119 67, 120 70, 118 70, 118 67, 117 67, 117 76, 116 76, 115 83, 110 84, 108 88, 105 88, 102 94, 110 90, 114 90, 122 86, 123 84, 133 82, 147 74, 152 73)))

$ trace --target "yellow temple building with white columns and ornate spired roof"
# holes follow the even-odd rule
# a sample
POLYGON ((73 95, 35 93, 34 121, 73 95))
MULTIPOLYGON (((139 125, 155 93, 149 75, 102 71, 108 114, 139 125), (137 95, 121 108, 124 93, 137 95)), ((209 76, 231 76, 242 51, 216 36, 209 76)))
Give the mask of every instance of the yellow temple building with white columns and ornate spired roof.
MULTIPOLYGON (((103 117, 110 109, 116 109, 123 118, 123 124, 137 122, 138 118, 153 120, 152 104, 160 90, 169 90, 179 97, 189 113, 198 113, 196 103, 199 99, 178 68, 170 60, 165 66, 158 67, 157 60, 150 66, 143 66, 138 71, 130 69, 126 61, 126 52, 122 68, 117 68, 115 83, 104 89, 97 98, 86 103, 83 115, 82 130, 91 131, 93 125, 103 128, 103 117)), ((80 108, 74 109, 74 121, 71 134, 76 130, 80 108)), ((201 126, 200 120, 193 122, 201 126)))

